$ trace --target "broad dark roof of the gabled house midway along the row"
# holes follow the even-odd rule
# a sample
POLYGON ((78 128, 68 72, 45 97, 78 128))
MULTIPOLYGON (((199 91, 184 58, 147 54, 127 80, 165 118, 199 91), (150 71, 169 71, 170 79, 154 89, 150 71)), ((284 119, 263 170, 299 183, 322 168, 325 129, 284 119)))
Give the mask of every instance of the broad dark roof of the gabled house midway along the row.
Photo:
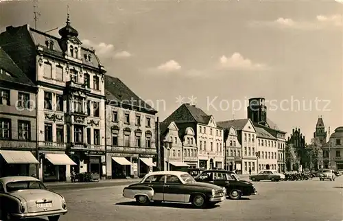
POLYGON ((200 124, 209 124, 212 115, 207 115, 204 110, 191 104, 182 104, 176 110, 174 110, 169 117, 164 121, 176 123, 191 123, 196 122, 200 124))

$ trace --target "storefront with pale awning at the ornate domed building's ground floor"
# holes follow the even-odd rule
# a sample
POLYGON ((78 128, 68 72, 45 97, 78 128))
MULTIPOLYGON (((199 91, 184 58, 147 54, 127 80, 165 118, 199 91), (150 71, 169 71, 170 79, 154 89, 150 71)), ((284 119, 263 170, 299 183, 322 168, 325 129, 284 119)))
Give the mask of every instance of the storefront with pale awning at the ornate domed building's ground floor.
POLYGON ((64 152, 40 152, 40 179, 49 181, 70 181, 71 166, 76 163, 64 152))

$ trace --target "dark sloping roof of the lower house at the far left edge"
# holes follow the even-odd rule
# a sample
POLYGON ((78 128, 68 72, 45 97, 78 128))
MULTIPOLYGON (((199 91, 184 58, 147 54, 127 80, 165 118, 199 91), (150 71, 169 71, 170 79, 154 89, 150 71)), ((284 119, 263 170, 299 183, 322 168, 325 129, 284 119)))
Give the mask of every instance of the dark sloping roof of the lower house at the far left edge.
POLYGON ((12 58, 6 54, 6 52, 0 47, 0 69, 3 71, 0 73, 0 80, 6 82, 13 82, 16 84, 24 84, 26 86, 35 86, 34 83, 27 78, 25 73, 14 63, 12 58))

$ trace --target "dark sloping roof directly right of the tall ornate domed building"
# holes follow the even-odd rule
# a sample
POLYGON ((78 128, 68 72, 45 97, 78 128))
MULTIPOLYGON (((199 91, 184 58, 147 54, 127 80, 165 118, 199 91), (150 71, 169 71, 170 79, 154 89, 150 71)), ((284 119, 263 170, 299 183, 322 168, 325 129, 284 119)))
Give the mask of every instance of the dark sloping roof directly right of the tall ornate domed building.
POLYGON ((139 110, 147 110, 157 113, 154 108, 146 104, 139 96, 126 86, 119 78, 105 75, 105 95, 110 104, 114 106, 131 106, 139 110))

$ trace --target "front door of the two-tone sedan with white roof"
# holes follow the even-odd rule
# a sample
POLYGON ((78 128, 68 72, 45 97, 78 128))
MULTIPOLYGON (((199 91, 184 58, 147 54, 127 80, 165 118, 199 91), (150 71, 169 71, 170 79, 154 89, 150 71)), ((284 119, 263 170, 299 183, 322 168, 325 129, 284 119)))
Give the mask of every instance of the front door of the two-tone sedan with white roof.
POLYGON ((183 183, 178 176, 165 175, 165 185, 163 189, 163 199, 170 202, 185 202, 187 193, 182 188, 183 183))

